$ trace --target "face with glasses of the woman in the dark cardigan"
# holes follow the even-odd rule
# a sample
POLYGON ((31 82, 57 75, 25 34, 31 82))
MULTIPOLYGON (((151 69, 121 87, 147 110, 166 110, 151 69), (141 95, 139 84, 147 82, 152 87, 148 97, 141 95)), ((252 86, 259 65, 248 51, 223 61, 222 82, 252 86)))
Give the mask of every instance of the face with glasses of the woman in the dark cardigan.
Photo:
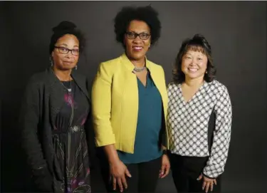
POLYGON ((69 71, 74 68, 78 63, 79 58, 79 41, 78 38, 71 34, 66 34, 58 38, 55 48, 51 53, 53 57, 54 68, 61 71, 69 71), (66 48, 73 50, 68 51, 66 48), (66 53, 68 52, 68 53, 66 53), (76 55, 78 54, 78 55, 76 55))

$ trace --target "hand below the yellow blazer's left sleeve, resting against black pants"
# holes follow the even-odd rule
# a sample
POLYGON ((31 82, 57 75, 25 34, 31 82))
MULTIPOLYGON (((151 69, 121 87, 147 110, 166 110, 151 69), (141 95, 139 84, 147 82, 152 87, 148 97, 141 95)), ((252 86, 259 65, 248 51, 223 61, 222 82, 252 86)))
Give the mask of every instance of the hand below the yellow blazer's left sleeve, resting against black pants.
POLYGON ((126 165, 122 161, 118 160, 117 162, 110 164, 110 177, 114 190, 116 189, 117 184, 120 188, 120 192, 123 192, 123 186, 127 189, 125 175, 127 175, 127 177, 132 177, 126 165))

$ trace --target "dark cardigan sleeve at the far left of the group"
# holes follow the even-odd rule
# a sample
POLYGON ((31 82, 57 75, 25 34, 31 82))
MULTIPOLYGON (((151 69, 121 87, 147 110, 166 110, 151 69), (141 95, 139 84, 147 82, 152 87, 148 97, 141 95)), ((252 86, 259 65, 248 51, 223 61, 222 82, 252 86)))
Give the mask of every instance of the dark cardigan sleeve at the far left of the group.
POLYGON ((38 140, 39 105, 41 104, 38 83, 31 78, 23 95, 19 125, 21 127, 21 145, 26 152, 27 162, 31 167, 33 178, 40 189, 51 190, 52 177, 43 157, 38 140), (44 180, 46 182, 44 182, 44 180), (37 182, 38 181, 38 182, 37 182))

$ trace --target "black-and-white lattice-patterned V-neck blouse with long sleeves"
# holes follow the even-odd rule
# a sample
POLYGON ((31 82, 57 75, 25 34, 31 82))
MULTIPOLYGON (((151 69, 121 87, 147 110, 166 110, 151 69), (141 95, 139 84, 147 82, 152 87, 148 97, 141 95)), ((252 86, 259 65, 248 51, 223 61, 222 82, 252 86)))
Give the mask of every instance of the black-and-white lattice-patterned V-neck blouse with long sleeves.
POLYGON ((204 82, 188 102, 184 101, 181 84, 169 83, 167 90, 171 152, 182 156, 209 156, 203 174, 218 177, 224 172, 231 139, 232 110, 227 88, 217 80, 204 82), (209 149, 208 127, 212 113, 215 122, 209 149))

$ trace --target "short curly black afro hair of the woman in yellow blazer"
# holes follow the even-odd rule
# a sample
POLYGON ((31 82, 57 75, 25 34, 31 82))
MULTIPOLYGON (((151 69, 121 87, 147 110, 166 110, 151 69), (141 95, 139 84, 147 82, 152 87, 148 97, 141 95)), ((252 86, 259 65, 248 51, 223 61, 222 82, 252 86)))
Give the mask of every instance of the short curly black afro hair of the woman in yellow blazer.
POLYGON ((125 6, 117 13, 114 19, 116 41, 123 44, 124 35, 131 21, 145 21, 150 27, 151 45, 154 45, 160 37, 161 23, 158 12, 152 6, 125 6))

